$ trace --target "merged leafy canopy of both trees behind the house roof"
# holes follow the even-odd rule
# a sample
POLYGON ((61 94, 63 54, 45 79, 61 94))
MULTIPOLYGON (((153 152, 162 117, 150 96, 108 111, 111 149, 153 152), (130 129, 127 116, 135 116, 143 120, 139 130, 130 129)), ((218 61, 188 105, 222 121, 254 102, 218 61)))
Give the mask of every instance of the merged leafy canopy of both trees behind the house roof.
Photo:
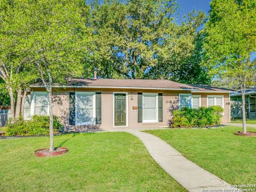
POLYGON ((179 25, 176 1, 93 1, 91 7, 92 63, 100 76, 209 83, 198 32, 203 12, 179 25))

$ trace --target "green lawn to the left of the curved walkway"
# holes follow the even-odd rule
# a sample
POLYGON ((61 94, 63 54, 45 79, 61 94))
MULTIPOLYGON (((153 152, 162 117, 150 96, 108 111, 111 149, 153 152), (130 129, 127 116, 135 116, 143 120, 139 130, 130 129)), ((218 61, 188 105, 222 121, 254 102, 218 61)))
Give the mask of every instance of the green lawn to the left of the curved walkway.
POLYGON ((0 140, 0 191, 186 191, 129 133, 54 137, 69 153, 39 158, 49 138, 0 140))

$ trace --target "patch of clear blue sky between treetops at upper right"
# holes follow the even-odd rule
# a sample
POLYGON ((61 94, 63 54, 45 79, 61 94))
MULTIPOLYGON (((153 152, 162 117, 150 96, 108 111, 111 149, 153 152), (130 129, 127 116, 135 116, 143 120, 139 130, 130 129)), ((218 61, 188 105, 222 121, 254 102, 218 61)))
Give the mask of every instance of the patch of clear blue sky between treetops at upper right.
POLYGON ((182 16, 189 13, 193 9, 196 11, 202 10, 206 14, 209 14, 211 0, 177 0, 177 2, 180 4, 181 9, 180 18, 178 21, 181 21, 182 16))

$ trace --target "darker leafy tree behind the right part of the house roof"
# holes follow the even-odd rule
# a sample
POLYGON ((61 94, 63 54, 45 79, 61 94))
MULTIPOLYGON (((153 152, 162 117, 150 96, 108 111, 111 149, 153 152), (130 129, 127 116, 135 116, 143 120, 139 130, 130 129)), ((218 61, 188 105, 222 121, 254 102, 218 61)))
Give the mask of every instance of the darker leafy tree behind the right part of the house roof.
POLYGON ((204 12, 192 11, 182 21, 172 38, 158 54, 157 65, 151 67, 146 78, 165 78, 188 84, 209 84, 211 78, 202 65, 203 39, 201 32, 206 20, 204 12))

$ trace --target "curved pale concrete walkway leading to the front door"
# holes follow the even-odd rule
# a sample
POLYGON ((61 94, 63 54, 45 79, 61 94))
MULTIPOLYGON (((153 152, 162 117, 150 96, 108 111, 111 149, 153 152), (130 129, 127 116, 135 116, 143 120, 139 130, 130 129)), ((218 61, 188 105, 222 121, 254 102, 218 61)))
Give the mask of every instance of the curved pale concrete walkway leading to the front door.
MULTIPOLYGON (((127 131, 138 137, 146 146, 150 156, 173 179, 189 191, 205 191, 203 189, 235 189, 230 185, 205 171, 195 163, 183 157, 179 151, 167 144, 162 139, 145 132, 127 131)), ((171 187, 171 186, 170 186, 171 187)))

